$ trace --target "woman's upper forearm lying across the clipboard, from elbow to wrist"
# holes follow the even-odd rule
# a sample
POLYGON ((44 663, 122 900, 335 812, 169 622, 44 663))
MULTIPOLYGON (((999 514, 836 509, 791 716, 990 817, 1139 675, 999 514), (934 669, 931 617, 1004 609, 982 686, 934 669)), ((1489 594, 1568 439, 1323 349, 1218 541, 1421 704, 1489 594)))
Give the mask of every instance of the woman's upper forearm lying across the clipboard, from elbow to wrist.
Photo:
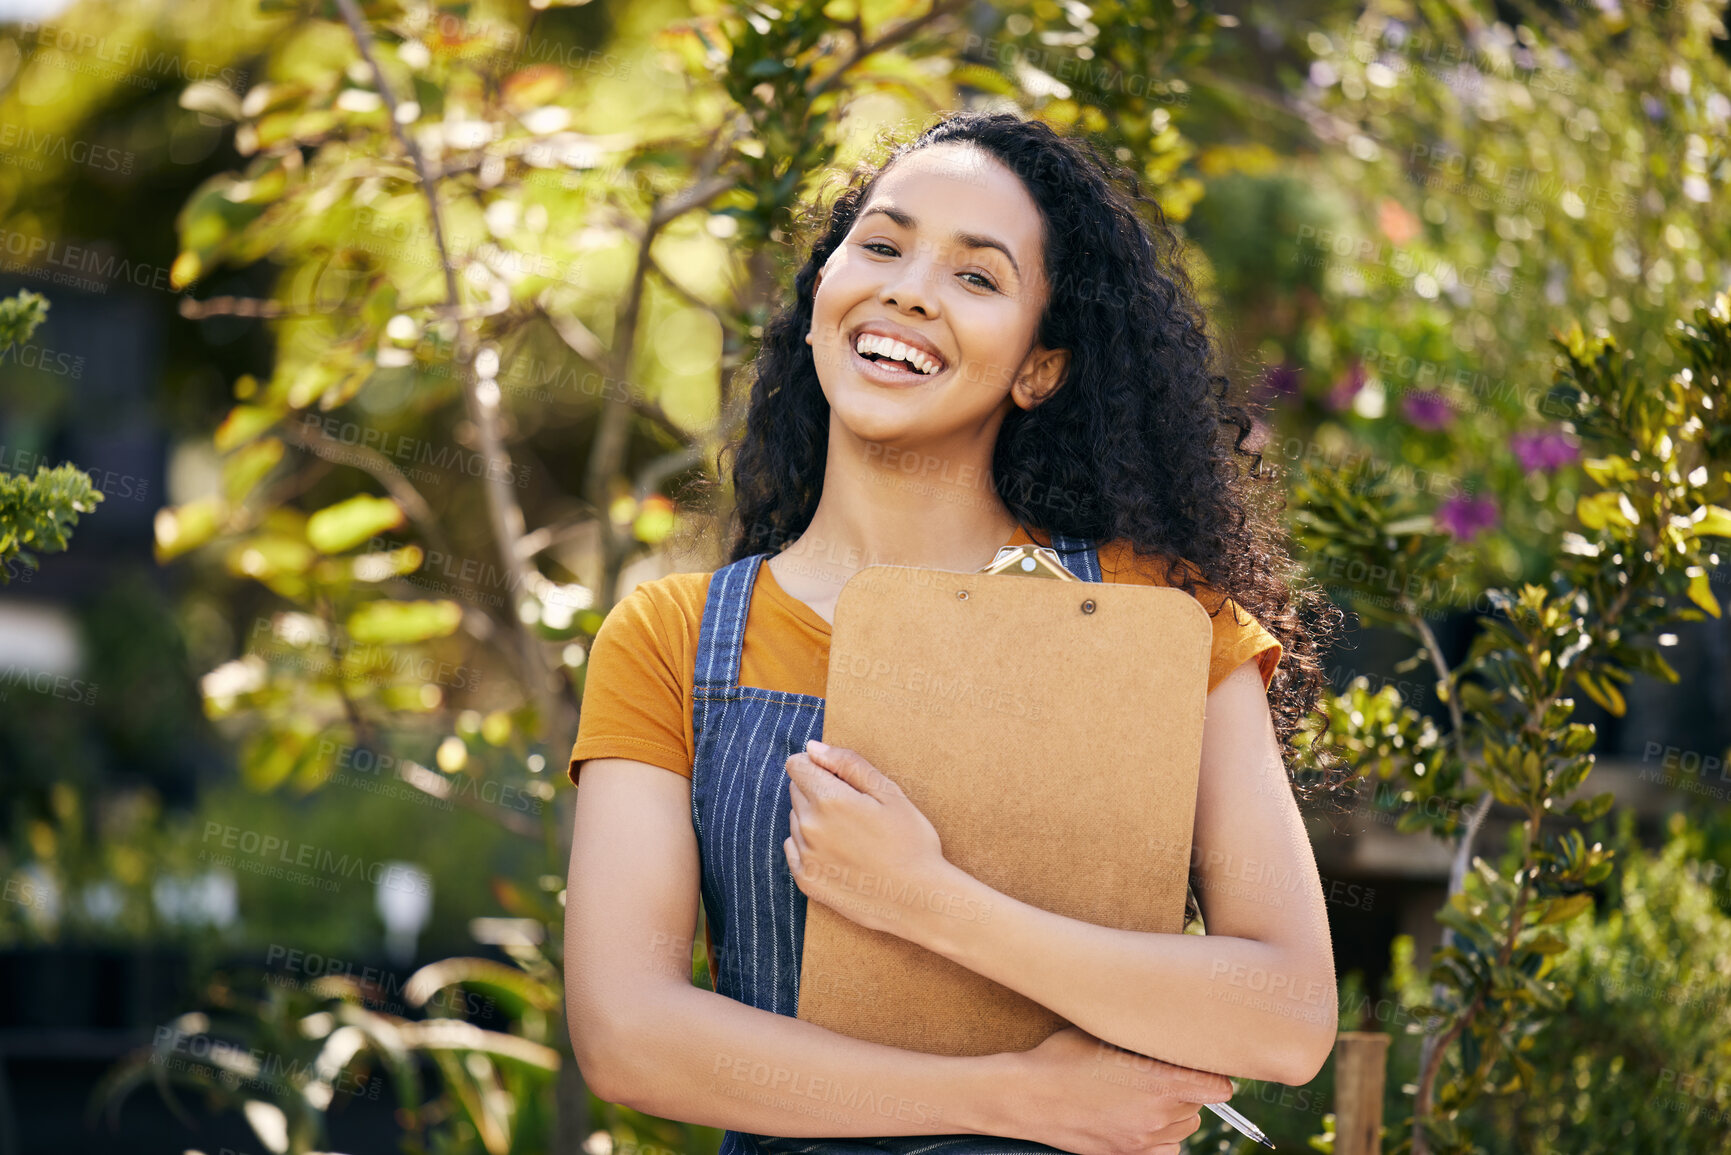
POLYGON ((1328 958, 1255 939, 1097 926, 1018 902, 961 869, 945 888, 959 897, 949 909, 992 916, 928 911, 911 926, 914 942, 1127 1051, 1302 1084, 1300 1072, 1333 1046, 1328 958))

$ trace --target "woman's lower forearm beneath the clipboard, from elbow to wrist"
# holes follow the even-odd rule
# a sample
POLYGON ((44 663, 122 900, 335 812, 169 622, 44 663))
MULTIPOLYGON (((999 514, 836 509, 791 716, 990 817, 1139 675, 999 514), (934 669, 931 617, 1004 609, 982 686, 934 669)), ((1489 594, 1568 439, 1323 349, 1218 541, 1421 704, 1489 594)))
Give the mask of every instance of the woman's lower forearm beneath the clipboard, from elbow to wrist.
POLYGON ((862 1042, 711 990, 658 984, 611 1034, 620 1101, 770 1136, 1006 1134, 1004 1056, 862 1042))

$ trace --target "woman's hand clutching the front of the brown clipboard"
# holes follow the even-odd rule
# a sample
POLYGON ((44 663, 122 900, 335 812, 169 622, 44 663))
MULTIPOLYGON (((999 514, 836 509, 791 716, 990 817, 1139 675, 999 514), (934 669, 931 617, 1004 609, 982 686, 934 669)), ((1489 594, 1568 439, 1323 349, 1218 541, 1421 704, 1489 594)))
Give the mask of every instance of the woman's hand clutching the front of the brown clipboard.
POLYGON ((869 930, 909 939, 916 916, 943 909, 956 866, 902 788, 857 750, 807 745, 788 758, 793 881, 869 930))

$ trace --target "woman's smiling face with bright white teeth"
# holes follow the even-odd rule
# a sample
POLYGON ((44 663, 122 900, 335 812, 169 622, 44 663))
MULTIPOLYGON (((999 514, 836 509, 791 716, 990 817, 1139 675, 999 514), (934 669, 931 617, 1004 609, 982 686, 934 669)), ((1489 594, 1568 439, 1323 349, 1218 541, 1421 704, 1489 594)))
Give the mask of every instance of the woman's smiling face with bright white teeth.
POLYGON ((879 177, 819 272, 812 355, 834 423, 866 442, 980 436, 1061 381, 1039 346, 1044 222, 1021 180, 964 144, 879 177))

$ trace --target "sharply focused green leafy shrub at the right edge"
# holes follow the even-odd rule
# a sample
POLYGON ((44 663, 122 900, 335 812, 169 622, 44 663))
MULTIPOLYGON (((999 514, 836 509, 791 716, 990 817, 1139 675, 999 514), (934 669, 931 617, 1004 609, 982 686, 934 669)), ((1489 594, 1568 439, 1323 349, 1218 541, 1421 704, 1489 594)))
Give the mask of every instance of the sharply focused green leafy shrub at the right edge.
MULTIPOLYGON (((1722 417, 1731 405, 1731 296, 1679 320, 1670 338, 1677 369, 1658 381, 1608 334, 1587 338, 1575 327, 1554 341, 1548 403, 1580 438, 1596 488, 1575 502, 1575 528, 1554 542, 1546 584, 1485 590, 1499 613, 1478 616, 1463 661, 1447 667, 1421 590, 1402 587, 1392 604, 1380 594, 1357 599, 1362 613, 1412 636, 1452 720, 1444 743, 1397 689, 1369 694, 1361 679, 1316 734, 1361 774, 1395 779, 1400 798, 1419 803, 1404 812, 1407 828, 1456 843, 1458 874, 1438 914, 1449 933, 1432 956, 1430 997, 1411 1008, 1430 1022, 1414 1120, 1397 1153, 1473 1152, 1466 1122, 1482 1096, 1527 1100, 1537 1091, 1527 1041, 1563 1011, 1568 985, 1554 970, 1570 951, 1565 933, 1593 911, 1593 888, 1612 874, 1612 852, 1599 842, 1589 845, 1579 829, 1541 829, 1548 817, 1565 817, 1561 803, 1594 762, 1594 727, 1570 720, 1567 691, 1579 687, 1622 715, 1618 687, 1636 674, 1677 681, 1650 639, 1719 616, 1702 573, 1717 565, 1715 539, 1731 537, 1722 417), (1522 816, 1518 845, 1501 866, 1471 855, 1492 800, 1522 816)), ((1374 487, 1355 490, 1338 473, 1307 471, 1295 499, 1295 537, 1321 571, 1345 558, 1426 582, 1440 573, 1444 535, 1374 487)), ((1567 817, 1591 823, 1612 800, 1579 797, 1567 817)))

